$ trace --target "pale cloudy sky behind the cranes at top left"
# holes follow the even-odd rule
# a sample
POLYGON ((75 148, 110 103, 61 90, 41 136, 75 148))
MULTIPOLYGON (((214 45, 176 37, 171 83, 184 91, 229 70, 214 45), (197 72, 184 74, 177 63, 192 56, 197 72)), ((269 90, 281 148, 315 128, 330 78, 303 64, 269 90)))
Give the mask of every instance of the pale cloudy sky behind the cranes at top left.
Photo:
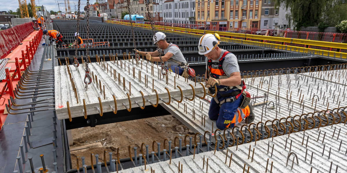
MULTIPOLYGON (((26 0, 27 3, 30 2, 30 0, 26 0)), ((60 10, 61 11, 65 11, 65 5, 64 5, 64 0, 35 0, 36 6, 44 6, 48 11, 59 11, 58 10, 58 2, 62 3, 59 4, 60 6, 60 10)), ((77 4, 78 4, 78 0, 69 0, 70 2, 70 9, 71 11, 75 11, 75 5, 76 5, 76 11, 77 11, 77 4)), ((90 4, 94 4, 96 2, 96 0, 89 0, 90 4)), ((81 11, 84 11, 83 8, 85 5, 82 4, 86 4, 87 0, 81 0, 81 11)), ((0 11, 8 11, 8 10, 12 10, 12 11, 16 11, 19 4, 17 0, 0 0, 0 11)))

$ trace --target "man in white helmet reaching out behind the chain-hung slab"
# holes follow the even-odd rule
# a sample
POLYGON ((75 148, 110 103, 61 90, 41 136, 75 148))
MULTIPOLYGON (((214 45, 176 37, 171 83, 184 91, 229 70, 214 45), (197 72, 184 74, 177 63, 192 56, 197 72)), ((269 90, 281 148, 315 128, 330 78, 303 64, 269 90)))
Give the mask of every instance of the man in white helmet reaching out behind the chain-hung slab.
POLYGON ((162 55, 162 61, 166 62, 166 65, 170 67, 174 73, 179 75, 187 74, 188 63, 184 58, 182 52, 178 48, 177 45, 166 42, 166 35, 162 32, 155 33, 155 37, 153 36, 153 43, 158 43, 158 47, 160 48, 160 52, 158 50, 154 52, 141 52, 135 50, 139 55, 146 56, 146 59, 149 61, 160 62, 159 53, 162 55))

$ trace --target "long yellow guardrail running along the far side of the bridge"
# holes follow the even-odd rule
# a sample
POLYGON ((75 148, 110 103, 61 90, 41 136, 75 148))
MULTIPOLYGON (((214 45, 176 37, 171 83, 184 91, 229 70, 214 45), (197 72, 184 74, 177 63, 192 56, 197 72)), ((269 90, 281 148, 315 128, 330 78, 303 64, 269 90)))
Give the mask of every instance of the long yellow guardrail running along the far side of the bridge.
MULTIPOLYGON (((120 24, 120 25, 130 25, 129 22, 110 21, 110 20, 106 22, 113 23, 113 24, 120 24)), ((151 29, 151 25, 148 25, 148 24, 133 23, 133 26, 142 27, 145 29, 151 29)), ((181 33, 181 31, 184 31, 184 32, 187 31, 187 32, 193 32, 193 33, 201 33, 201 34, 186 33, 193 36, 202 36, 202 34, 204 33, 204 30, 199 30, 199 29, 188 29, 188 28, 186 29, 186 28, 165 26, 165 30, 164 30, 164 26, 154 25, 154 27, 157 30, 161 30, 165 32, 181 33)), ((220 36, 241 38, 241 39, 236 39, 236 38, 221 37, 222 41, 232 40, 239 44, 257 44, 259 46, 267 45, 268 47, 270 46, 272 49, 275 49, 275 50, 277 49, 277 50, 286 50, 286 51, 296 51, 296 52, 303 52, 303 53, 314 52, 315 54, 319 54, 322 56, 344 58, 344 59, 347 58, 347 53, 343 53, 343 52, 324 51, 321 49, 314 49, 314 48, 305 48, 305 47, 299 47, 299 46, 289 46, 289 45, 282 45, 282 44, 257 42, 257 41, 247 40, 247 39, 259 39, 259 40, 274 41, 274 42, 284 42, 284 43, 293 43, 293 44, 301 44, 301 45, 347 49, 347 44, 345 43, 333 43, 333 42, 322 42, 322 41, 315 41, 315 40, 295 39, 295 38, 282 38, 282 37, 261 36, 261 35, 251 35, 251 34, 228 33, 228 32, 210 31, 210 30, 206 30, 206 33, 210 33, 210 34, 218 33, 220 36)))

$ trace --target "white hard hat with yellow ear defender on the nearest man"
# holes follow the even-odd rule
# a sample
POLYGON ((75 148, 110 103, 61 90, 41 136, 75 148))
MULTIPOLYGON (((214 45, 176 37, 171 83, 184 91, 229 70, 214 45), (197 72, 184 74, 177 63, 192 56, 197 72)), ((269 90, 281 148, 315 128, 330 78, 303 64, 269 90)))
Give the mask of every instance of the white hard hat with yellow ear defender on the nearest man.
POLYGON ((217 45, 219 45, 220 37, 218 34, 205 34, 198 43, 200 55, 205 55, 211 52, 217 45))

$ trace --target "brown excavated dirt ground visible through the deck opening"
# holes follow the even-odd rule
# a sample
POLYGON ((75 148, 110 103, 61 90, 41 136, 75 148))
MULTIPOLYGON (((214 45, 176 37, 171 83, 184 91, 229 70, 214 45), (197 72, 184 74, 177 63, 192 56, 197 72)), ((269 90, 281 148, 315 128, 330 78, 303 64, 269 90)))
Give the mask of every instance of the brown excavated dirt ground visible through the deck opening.
MULTIPOLYGON (((74 141, 73 145, 70 145, 71 150, 77 147, 83 148, 84 145, 96 145, 96 147, 92 146, 82 150, 71 151, 71 161, 74 169, 77 167, 77 155, 78 157, 84 156, 85 163, 91 165, 91 153, 94 155, 99 154, 99 162, 103 162, 105 149, 107 152, 112 152, 113 159, 116 159, 117 147, 119 147, 119 158, 128 158, 129 145, 137 147, 137 154, 140 154, 142 143, 149 145, 149 150, 152 151, 154 140, 163 144, 164 139, 168 138, 172 140, 171 147, 174 148, 175 136, 183 138, 186 134, 194 134, 172 115, 117 122, 96 127, 83 127, 73 129, 71 133, 74 141)), ((168 144, 166 144, 167 146, 168 144)), ((157 151, 156 147, 155 145, 155 151, 157 151)), ((163 148, 163 145, 161 145, 161 148, 163 148)), ((133 151, 132 149, 132 156, 134 156, 133 151)), ((106 161, 109 161, 108 153, 106 154, 106 161)), ((94 156, 93 163, 96 164, 94 156)), ((79 158, 79 167, 82 167, 81 158, 79 158)))

